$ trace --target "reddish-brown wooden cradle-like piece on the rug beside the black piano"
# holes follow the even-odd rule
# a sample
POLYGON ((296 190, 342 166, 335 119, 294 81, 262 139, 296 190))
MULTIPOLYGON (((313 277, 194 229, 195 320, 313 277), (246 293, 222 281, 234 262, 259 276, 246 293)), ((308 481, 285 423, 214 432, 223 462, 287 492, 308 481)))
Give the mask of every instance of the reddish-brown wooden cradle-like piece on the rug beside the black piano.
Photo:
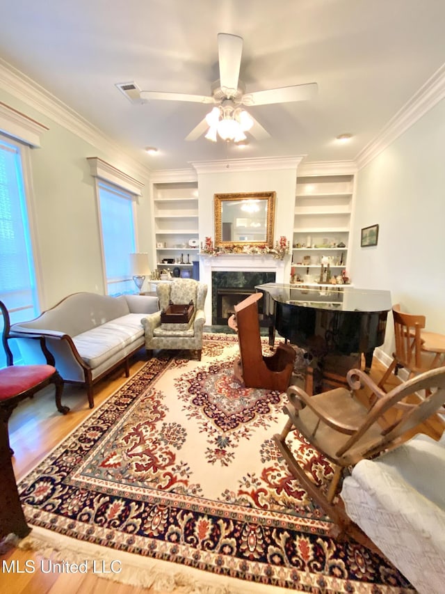
POLYGON ((241 355, 235 361, 234 374, 246 388, 283 392, 291 382, 296 352, 291 345, 280 344, 270 357, 262 354, 257 304, 262 296, 249 295, 235 306, 235 313, 229 318, 229 327, 238 333, 241 355))

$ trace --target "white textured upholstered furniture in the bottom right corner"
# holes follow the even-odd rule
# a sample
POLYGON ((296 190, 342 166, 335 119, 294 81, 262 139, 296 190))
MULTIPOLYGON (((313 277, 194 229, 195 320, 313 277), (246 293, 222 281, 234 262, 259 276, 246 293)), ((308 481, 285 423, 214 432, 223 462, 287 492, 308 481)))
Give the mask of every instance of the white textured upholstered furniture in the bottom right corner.
POLYGON ((445 592, 445 435, 416 435, 343 481, 346 513, 419 593, 445 592))

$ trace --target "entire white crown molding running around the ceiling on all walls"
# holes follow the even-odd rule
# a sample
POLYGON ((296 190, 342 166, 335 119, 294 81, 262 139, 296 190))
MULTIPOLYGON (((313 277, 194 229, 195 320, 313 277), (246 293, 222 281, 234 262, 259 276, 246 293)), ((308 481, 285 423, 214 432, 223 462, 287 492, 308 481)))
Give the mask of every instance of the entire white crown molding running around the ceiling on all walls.
MULTIPOLYGON (((77 114, 74 109, 51 95, 42 86, 26 77, 22 72, 0 58, 0 79, 1 87, 17 99, 28 104, 41 114, 65 127, 76 136, 90 143, 94 148, 110 154, 116 161, 126 163, 137 175, 150 180, 161 181, 195 181, 193 170, 152 170, 138 159, 134 159, 109 136, 106 136, 99 128, 92 125, 88 120, 77 114)), ((389 120, 389 123, 382 128, 367 146, 365 146, 351 162, 300 162, 306 155, 298 157, 264 157, 259 159, 229 159, 220 161, 191 162, 191 166, 197 173, 229 173, 234 171, 261 171, 265 169, 296 169, 299 167, 298 175, 316 175, 316 173, 355 173, 371 162, 379 153, 401 136, 408 128, 416 123, 424 114, 445 97, 445 64, 442 65, 419 91, 389 120), (344 170, 339 170, 342 168, 344 170), (337 168, 337 169, 336 169, 337 168)), ((3 107, 8 108, 3 104, 3 107)), ((0 129, 3 128, 2 113, 0 109, 0 129)), ((15 110, 13 110, 15 111, 15 110)), ((19 112, 17 112, 19 114, 19 112)), ((22 114, 27 118, 29 125, 35 120, 22 114)), ((7 116, 6 116, 7 117, 7 116)), ((38 123, 36 123, 39 125, 38 123)), ((42 126, 42 125, 40 125, 42 126)), ((32 125, 31 125, 32 128, 32 125)), ((44 127, 48 130, 46 127, 44 127)), ((5 130, 6 134, 13 135, 5 130)), ((35 131, 34 131, 35 132, 35 131)), ((38 138, 31 133, 31 140, 26 141, 31 146, 40 146, 38 138)), ((17 136, 19 137, 19 136, 17 136)))

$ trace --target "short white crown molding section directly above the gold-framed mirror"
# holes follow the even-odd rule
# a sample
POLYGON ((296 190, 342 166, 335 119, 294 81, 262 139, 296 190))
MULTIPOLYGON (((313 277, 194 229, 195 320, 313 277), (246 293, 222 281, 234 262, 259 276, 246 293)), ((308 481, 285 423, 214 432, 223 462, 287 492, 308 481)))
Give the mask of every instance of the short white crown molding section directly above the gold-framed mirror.
POLYGON ((263 157, 258 159, 221 159, 218 161, 195 161, 191 162, 191 165, 193 165, 198 174, 297 169, 303 157, 305 155, 298 157, 263 157))

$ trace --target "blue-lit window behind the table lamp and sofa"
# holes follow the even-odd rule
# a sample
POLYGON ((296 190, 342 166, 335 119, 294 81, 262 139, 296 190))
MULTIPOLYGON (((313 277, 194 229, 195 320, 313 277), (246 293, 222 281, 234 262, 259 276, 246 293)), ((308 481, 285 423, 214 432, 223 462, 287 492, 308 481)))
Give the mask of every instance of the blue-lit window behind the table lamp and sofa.
POLYGON ((134 292, 130 253, 136 251, 133 196, 117 186, 97 182, 102 232, 106 292, 122 295, 134 292))

